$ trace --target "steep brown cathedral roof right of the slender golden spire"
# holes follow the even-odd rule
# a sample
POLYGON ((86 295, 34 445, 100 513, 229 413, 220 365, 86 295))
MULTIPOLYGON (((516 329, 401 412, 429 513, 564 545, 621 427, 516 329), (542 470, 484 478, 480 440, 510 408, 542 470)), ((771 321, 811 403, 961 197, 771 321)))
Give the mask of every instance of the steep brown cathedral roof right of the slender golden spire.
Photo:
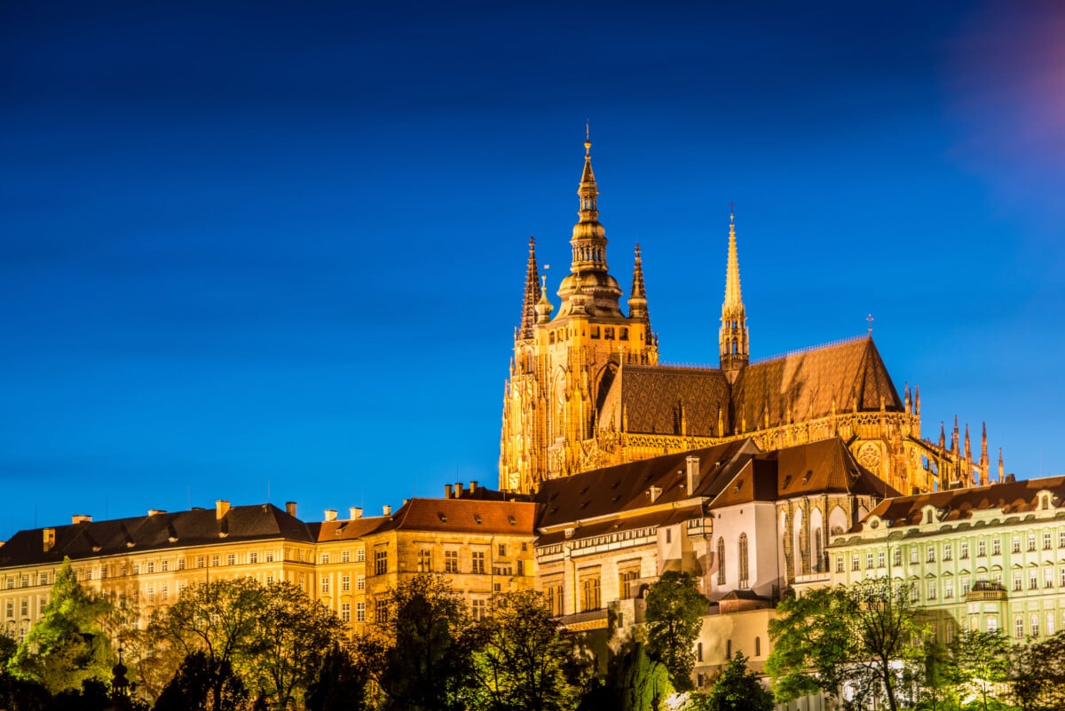
POLYGON ((871 337, 820 346, 749 365, 740 371, 733 391, 737 420, 769 425, 823 417, 832 412, 884 409, 902 412, 903 404, 871 337))

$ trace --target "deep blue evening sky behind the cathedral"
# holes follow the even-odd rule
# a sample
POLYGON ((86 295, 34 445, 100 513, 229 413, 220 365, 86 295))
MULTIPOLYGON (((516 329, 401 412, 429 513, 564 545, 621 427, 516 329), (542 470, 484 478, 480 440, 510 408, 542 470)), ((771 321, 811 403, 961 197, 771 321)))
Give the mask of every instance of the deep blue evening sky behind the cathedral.
POLYGON ((735 201, 754 359, 872 313, 925 436, 1065 473, 1063 5, 747 4, 0 4, 0 540, 494 486, 586 118, 663 362, 735 201))

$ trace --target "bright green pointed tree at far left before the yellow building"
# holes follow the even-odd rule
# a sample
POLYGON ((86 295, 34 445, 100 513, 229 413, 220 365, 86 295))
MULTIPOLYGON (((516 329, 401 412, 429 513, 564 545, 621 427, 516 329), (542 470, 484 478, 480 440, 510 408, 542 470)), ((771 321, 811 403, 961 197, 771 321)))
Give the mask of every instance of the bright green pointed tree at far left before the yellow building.
POLYGON ((44 615, 10 662, 12 673, 39 681, 52 694, 77 691, 86 679, 108 679, 113 659, 101 621, 110 608, 106 599, 81 586, 64 559, 44 615))

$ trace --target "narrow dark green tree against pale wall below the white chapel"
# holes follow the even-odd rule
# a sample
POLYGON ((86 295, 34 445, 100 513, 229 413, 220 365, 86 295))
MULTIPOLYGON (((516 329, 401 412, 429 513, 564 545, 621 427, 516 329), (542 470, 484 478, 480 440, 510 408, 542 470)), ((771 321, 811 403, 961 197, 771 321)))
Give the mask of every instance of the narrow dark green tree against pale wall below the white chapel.
POLYGON ((688 573, 667 571, 648 590, 644 618, 648 655, 669 669, 677 691, 694 688, 695 666, 692 645, 703 627, 708 601, 688 573))

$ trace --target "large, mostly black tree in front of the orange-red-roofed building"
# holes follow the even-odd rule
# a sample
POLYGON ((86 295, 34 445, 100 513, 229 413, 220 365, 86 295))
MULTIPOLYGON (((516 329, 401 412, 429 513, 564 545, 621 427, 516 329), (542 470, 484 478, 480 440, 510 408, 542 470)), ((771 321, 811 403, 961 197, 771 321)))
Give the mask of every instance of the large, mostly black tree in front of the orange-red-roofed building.
POLYGON ((382 622, 356 638, 384 709, 459 711, 476 684, 475 634, 465 601, 446 579, 417 575, 382 599, 382 622))

